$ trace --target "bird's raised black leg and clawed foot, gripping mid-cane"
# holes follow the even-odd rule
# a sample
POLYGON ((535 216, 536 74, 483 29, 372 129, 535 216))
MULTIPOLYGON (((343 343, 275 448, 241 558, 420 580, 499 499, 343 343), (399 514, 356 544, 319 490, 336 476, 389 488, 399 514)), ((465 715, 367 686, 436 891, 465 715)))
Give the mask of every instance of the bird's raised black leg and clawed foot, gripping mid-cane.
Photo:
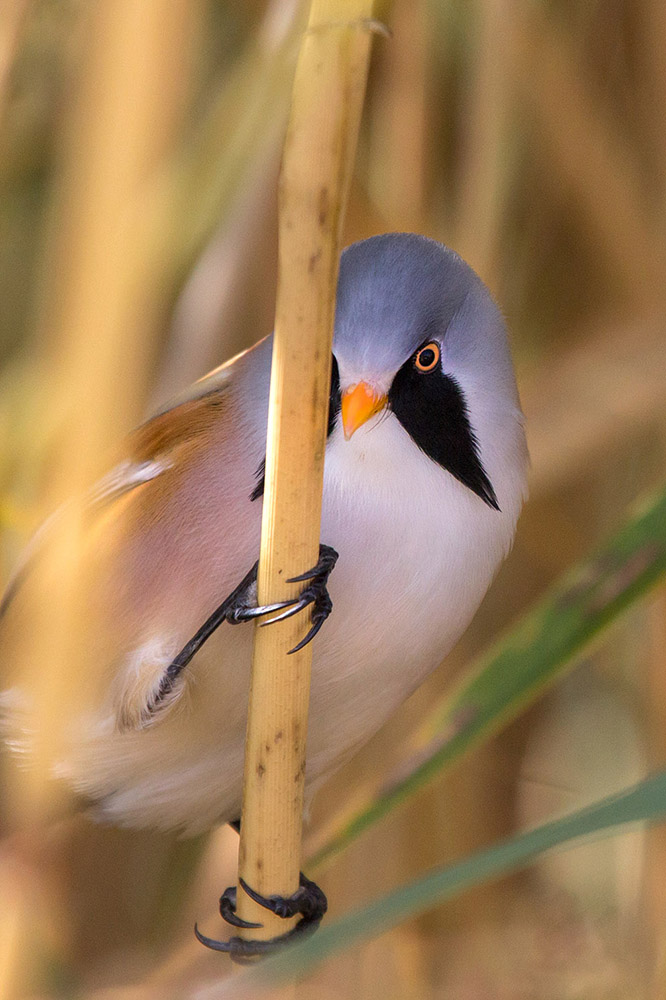
POLYGON ((303 608, 311 604, 312 627, 305 638, 294 649, 290 649, 289 652, 295 653, 296 650, 302 649, 303 646, 307 645, 308 642, 314 639, 331 613, 333 605, 328 595, 326 584, 337 558, 338 553, 330 545, 320 545, 317 565, 313 566, 307 573, 292 577, 287 581, 288 583, 308 581, 307 586, 303 588, 300 595, 288 601, 276 601, 273 604, 263 605, 257 604, 257 568, 259 563, 256 562, 235 590, 232 590, 229 596, 222 601, 219 608, 213 611, 212 615, 206 619, 198 632, 192 636, 189 642, 183 646, 180 653, 169 664, 164 672, 160 690, 155 699, 155 705, 171 691, 184 667, 187 666, 195 653, 201 649, 204 642, 211 637, 213 632, 223 622, 229 622, 230 625, 238 625, 241 622, 252 621, 254 618, 271 614, 274 611, 282 612, 273 618, 269 618, 268 621, 262 622, 262 625, 271 625, 273 622, 281 621, 283 618, 289 618, 291 615, 298 614, 299 611, 302 611, 303 608))

